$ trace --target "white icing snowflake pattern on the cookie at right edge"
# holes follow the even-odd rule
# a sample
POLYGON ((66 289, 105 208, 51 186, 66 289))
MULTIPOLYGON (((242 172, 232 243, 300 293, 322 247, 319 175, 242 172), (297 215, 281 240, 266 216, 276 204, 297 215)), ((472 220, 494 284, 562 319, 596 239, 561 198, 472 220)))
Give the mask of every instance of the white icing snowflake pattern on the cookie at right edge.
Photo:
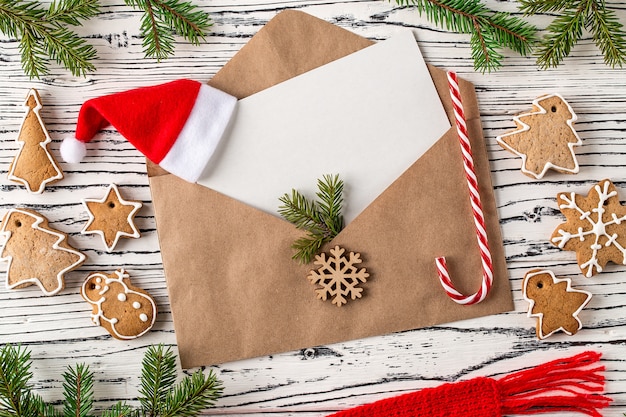
POLYGON ((575 234, 571 234, 566 232, 565 230, 559 229, 558 233, 560 236, 556 236, 552 238, 552 242, 556 244, 559 248, 563 249, 567 242, 572 238, 578 238, 581 242, 585 240, 585 236, 595 235, 594 242, 589 246, 591 249, 591 257, 584 263, 580 264, 580 268, 585 273, 587 278, 593 276, 593 270, 596 269, 598 272, 602 272, 602 267, 598 262, 598 251, 602 249, 602 245, 598 243, 600 237, 607 238, 607 242, 604 244, 606 247, 614 246, 617 250, 622 253, 623 256, 623 264, 626 264, 626 249, 622 247, 622 245, 617 242, 617 235, 612 234, 609 235, 606 232, 606 227, 612 224, 620 224, 622 220, 626 219, 626 215, 622 217, 617 217, 615 213, 612 214, 612 220, 608 222, 604 222, 602 219, 602 215, 605 212, 604 203, 611 197, 615 197, 617 195, 617 191, 613 190, 608 192, 609 190, 609 181, 605 181, 603 187, 601 188, 599 184, 594 186, 594 189, 598 193, 598 205, 596 208, 592 209, 593 213, 596 213, 596 216, 592 216, 590 212, 586 212, 578 207, 576 203, 576 195, 575 193, 570 193, 569 197, 567 195, 561 195, 561 199, 565 201, 565 204, 561 204, 559 208, 564 209, 574 209, 581 213, 581 220, 585 220, 588 224, 586 227, 579 227, 578 232, 575 234), (596 220, 593 219, 596 218, 596 220), (587 229, 587 230, 585 230, 587 229), (587 270, 585 272, 585 269, 587 270))

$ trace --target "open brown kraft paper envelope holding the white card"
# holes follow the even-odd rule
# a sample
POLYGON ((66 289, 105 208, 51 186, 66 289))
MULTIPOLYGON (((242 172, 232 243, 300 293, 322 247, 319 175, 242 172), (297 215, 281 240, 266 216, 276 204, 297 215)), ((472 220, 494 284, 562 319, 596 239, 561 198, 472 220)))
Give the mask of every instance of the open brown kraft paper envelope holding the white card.
MULTIPOLYGON (((285 11, 259 30, 209 84, 244 98, 371 44, 305 13, 285 11)), ((429 70, 453 120, 445 73, 432 66, 429 70)), ((291 259, 291 244, 300 236, 291 224, 148 165, 184 368, 513 308, 478 103, 471 83, 460 80, 460 88, 494 263, 491 293, 473 306, 458 305, 445 295, 434 262, 446 257, 460 291, 478 289, 481 262, 454 128, 325 247, 360 252, 361 266, 370 273, 363 298, 342 307, 316 299, 306 279, 314 265, 291 259)))

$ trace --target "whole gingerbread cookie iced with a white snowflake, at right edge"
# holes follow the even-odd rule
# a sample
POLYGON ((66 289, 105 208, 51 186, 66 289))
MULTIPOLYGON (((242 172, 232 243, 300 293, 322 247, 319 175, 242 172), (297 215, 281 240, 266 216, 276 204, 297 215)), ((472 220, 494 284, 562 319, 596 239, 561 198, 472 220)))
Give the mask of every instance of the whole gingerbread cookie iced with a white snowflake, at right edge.
POLYGON ((586 197, 561 193, 557 203, 567 222, 556 228, 550 241, 575 251, 587 278, 602 272, 609 261, 626 265, 626 207, 611 181, 600 181, 586 197))

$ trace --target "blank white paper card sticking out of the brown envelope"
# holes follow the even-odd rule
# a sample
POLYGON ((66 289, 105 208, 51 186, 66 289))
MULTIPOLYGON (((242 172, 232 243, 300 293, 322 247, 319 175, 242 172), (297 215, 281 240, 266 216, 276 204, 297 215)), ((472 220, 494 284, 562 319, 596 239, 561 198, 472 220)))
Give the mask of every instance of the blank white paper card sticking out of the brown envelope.
POLYGON ((198 183, 277 215, 283 194, 316 198, 339 174, 347 224, 449 128, 404 31, 240 100, 198 183))

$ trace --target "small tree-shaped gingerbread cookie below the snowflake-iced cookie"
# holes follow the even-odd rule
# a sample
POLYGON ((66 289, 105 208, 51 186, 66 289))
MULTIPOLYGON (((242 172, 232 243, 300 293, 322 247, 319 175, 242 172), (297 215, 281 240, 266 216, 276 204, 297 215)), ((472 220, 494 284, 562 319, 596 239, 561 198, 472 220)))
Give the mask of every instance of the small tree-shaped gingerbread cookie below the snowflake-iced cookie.
POLYGON ((524 299, 530 303, 528 317, 537 318, 537 337, 545 339, 563 331, 576 334, 582 323, 578 314, 591 300, 591 293, 575 290, 569 279, 557 279, 552 271, 529 271, 522 284, 524 299))

